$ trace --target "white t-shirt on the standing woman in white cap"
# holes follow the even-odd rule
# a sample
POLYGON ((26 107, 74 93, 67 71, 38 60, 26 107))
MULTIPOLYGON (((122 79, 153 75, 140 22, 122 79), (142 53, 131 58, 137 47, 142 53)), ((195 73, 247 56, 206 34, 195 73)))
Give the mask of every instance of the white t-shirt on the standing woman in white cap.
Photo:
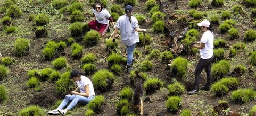
POLYGON ((204 49, 199 49, 202 59, 209 59, 213 56, 214 34, 211 31, 205 31, 200 42, 205 43, 204 49))

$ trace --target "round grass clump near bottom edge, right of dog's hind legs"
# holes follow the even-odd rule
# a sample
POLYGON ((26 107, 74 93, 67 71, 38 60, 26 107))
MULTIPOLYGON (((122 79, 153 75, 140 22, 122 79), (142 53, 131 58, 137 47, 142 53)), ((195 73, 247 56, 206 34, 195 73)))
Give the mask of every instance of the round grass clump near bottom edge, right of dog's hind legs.
POLYGON ((170 112, 177 112, 181 107, 181 98, 179 96, 171 96, 166 100, 166 108, 170 112))

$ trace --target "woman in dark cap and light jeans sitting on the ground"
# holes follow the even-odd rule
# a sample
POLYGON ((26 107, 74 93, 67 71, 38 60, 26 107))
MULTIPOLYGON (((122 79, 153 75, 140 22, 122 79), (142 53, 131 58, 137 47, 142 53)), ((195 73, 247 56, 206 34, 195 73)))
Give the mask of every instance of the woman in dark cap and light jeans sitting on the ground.
POLYGON ((78 87, 65 96, 57 109, 49 111, 48 114, 65 115, 69 110, 76 106, 78 102, 87 104, 94 99, 95 93, 93 83, 89 78, 80 75, 78 70, 72 70, 69 78, 76 81, 78 87), (70 104, 68 105, 69 102, 70 104), (63 109, 66 105, 68 105, 67 108, 63 109))

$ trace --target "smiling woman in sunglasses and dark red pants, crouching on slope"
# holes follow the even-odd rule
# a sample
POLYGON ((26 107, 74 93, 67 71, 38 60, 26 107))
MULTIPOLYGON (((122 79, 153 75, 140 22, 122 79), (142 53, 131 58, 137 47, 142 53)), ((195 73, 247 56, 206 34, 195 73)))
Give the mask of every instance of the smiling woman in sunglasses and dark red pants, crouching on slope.
POLYGON ((111 15, 109 14, 109 12, 103 7, 102 3, 99 1, 96 1, 93 4, 93 15, 94 15, 94 20, 90 21, 88 23, 88 26, 90 29, 94 29, 96 31, 98 31, 101 34, 101 37, 104 36, 104 34, 106 33, 106 31, 109 28, 109 20, 112 23, 114 29, 114 21, 111 17, 111 15))

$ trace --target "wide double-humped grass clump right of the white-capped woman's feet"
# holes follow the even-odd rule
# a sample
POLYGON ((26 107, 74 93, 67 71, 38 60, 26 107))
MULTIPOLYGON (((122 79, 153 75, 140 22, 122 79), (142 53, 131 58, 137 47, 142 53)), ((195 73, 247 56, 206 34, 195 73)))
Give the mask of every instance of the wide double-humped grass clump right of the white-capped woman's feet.
POLYGON ((222 78, 211 86, 211 91, 215 96, 223 96, 239 84, 237 78, 222 78))

